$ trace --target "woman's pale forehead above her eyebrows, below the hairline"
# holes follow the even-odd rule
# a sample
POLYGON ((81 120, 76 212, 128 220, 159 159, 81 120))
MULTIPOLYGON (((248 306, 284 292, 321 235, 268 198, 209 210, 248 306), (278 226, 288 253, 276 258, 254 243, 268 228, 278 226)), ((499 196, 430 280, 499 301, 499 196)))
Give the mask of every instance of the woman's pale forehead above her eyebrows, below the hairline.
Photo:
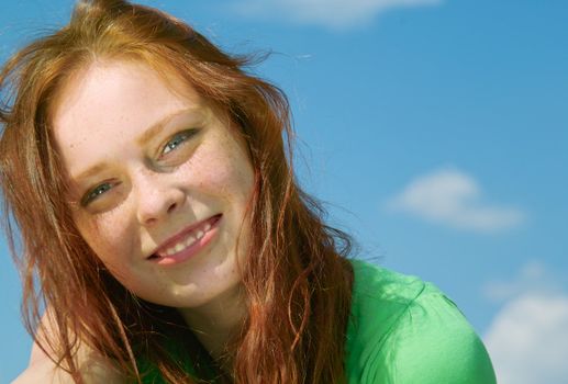
POLYGON ((138 115, 159 117, 170 109, 202 105, 189 84, 174 74, 168 79, 163 74, 136 61, 94 61, 71 76, 58 92, 53 126, 60 134, 66 127, 126 125, 138 115))

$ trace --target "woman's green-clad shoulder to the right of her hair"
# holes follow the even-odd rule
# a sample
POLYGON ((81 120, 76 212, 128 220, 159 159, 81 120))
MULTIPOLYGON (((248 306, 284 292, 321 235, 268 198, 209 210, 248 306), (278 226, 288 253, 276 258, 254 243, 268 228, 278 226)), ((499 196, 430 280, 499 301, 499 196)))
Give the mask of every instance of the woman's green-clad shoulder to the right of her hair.
POLYGON ((435 285, 353 260, 349 383, 495 383, 483 343, 435 285))

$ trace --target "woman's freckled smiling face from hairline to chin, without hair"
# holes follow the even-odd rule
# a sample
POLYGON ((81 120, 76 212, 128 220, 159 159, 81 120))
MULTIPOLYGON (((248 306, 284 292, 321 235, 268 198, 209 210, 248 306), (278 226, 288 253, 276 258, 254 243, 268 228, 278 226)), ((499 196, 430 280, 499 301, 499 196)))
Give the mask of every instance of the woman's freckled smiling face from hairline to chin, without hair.
POLYGON ((144 300, 196 307, 238 285, 254 171, 226 118, 168 84, 142 64, 97 61, 62 90, 53 126, 100 260, 144 300))

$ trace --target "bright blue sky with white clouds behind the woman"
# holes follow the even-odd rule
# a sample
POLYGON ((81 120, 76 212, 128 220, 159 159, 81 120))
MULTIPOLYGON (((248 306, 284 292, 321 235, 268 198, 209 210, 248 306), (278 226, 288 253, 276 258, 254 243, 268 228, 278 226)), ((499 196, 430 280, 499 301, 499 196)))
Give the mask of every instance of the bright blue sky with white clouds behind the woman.
MULTIPOLYGON (((568 3, 560 0, 145 1, 289 95, 297 169, 359 256, 437 284, 500 383, 568 379, 568 3)), ((3 5, 0 57, 71 1, 3 5)), ((26 365, 0 241, 0 382, 26 365)))

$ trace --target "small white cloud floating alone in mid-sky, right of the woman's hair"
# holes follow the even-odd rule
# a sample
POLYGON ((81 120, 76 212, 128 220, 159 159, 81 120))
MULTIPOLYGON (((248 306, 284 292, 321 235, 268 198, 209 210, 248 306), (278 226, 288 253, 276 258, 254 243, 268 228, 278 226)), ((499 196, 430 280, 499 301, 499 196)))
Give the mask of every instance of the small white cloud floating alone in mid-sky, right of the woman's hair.
POLYGON ((452 168, 439 169, 412 180, 387 207, 453 228, 498 231, 519 226, 525 215, 514 207, 481 201, 477 181, 452 168))

